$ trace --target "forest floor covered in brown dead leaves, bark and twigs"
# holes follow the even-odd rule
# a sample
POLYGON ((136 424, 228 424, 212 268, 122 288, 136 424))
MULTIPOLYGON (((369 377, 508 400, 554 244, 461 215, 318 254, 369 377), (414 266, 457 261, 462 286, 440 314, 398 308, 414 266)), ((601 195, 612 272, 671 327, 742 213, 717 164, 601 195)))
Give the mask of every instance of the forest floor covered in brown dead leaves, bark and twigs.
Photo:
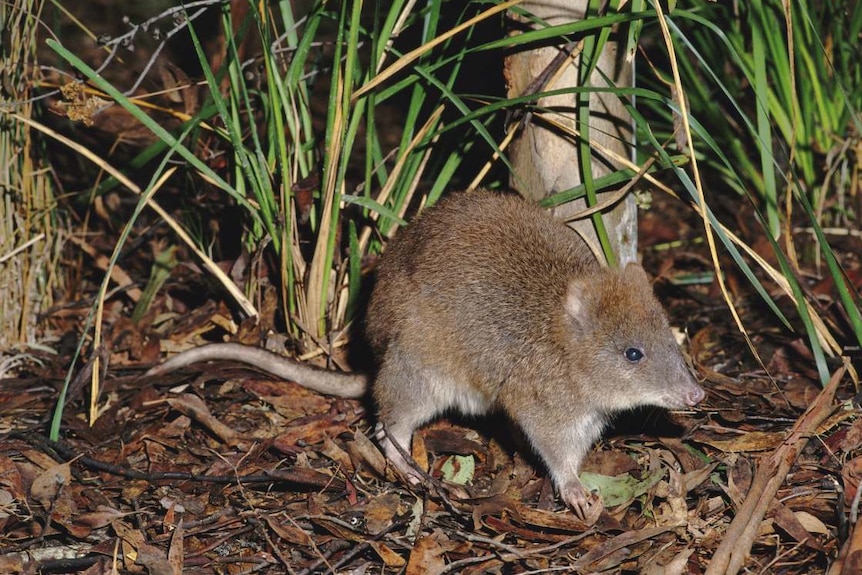
POLYGON ((603 484, 595 524, 565 509, 500 418, 424 428, 413 451, 435 483, 409 487, 386 471, 365 401, 229 363, 142 377, 162 352, 218 336, 230 317, 217 290, 194 308, 171 297, 201 289, 200 274, 180 266, 141 321, 108 306, 92 424, 82 370, 61 441, 45 437, 86 305, 52 310, 56 353, 34 353, 20 377, 0 381, 0 572, 702 573, 723 542, 745 550, 745 537, 747 572, 825 572, 858 505, 856 390, 843 377, 824 392, 802 338, 730 274, 761 366, 714 282, 692 280, 709 278, 697 235, 670 200, 642 221, 645 265, 707 398, 687 412, 618 418, 583 470, 603 484), (746 503, 758 498, 761 515, 746 503), (730 527, 746 514, 747 536, 730 527))

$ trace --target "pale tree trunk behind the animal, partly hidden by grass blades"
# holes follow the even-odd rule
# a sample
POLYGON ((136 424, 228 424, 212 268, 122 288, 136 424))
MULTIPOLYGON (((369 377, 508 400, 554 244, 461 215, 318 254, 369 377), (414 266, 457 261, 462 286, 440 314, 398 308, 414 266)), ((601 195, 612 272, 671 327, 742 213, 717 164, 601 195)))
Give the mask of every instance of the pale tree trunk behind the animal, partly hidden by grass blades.
MULTIPOLYGON (((559 25, 582 20, 588 2, 586 0, 541 0, 525 1, 519 6, 531 11, 550 25, 559 25)), ((596 71, 590 78, 592 86, 607 86, 602 74, 609 78, 612 85, 626 87, 632 85, 633 66, 625 62, 622 53, 624 45, 618 46, 614 33, 605 45, 599 58, 596 71), (600 72, 601 71, 601 72, 600 72)), ((524 51, 509 56, 506 60, 506 77, 509 96, 520 96, 527 92, 535 78, 541 76, 549 64, 560 53, 561 47, 546 47, 524 51)), ((566 65, 565 71, 552 85, 540 90, 560 89, 578 85, 578 66, 580 58, 566 65)), ((554 120, 570 128, 577 129, 577 96, 566 94, 543 98, 539 107, 567 109, 565 114, 554 112, 554 120)), ((590 140, 624 158, 632 155, 632 121, 619 97, 608 93, 593 93, 590 96, 590 140)), ((612 173, 618 164, 606 155, 592 149, 592 175, 594 178, 612 173)), ((571 136, 553 131, 545 123, 530 122, 510 147, 510 159, 515 168, 511 184, 522 194, 534 200, 560 192, 582 183, 578 157, 577 141, 571 136)), ((610 192, 599 194, 601 203, 610 192)), ((586 207, 584 199, 556 208, 556 215, 568 218, 586 207)), ((604 222, 610 244, 619 265, 637 259, 637 206, 629 194, 613 209, 604 212, 604 222)), ((598 238, 589 219, 573 222, 588 241, 598 246, 598 238)))

